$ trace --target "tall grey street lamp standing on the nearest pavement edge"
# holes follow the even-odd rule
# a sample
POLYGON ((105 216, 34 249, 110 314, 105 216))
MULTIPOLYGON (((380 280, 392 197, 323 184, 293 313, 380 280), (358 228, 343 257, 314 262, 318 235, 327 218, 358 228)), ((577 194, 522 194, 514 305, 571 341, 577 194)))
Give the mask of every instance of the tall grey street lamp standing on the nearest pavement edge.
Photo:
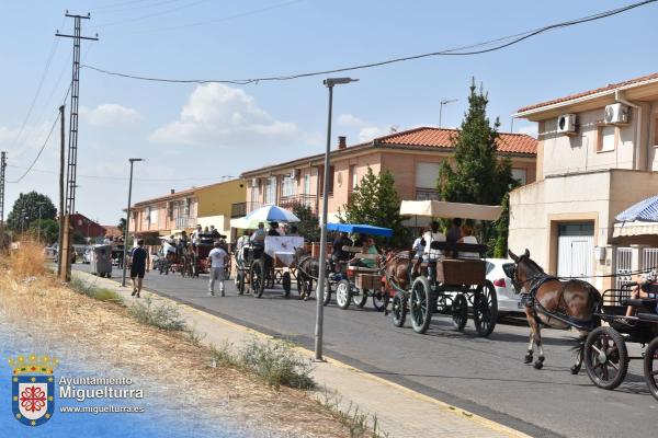
POLYGON ((329 89, 329 116, 327 118, 327 150, 325 151, 325 176, 322 177, 322 221, 320 223, 320 268, 318 277, 318 289, 316 291, 317 313, 316 313, 316 333, 315 333, 315 359, 322 359, 322 319, 324 319, 324 295, 325 276, 327 273, 327 208, 328 196, 327 187, 329 183, 329 154, 331 153, 331 110, 333 105, 333 85, 355 82, 359 79, 352 78, 327 78, 322 81, 329 89))

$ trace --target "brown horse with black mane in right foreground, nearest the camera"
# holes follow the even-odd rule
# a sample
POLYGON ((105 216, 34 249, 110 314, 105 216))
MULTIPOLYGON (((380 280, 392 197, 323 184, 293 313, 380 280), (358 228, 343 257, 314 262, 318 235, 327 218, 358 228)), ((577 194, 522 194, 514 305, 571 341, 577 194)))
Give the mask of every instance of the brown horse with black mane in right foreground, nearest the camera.
POLYGON ((601 293, 587 281, 564 281, 546 274, 530 258, 527 250, 521 255, 511 250, 508 253, 515 265, 512 284, 525 301, 525 318, 530 325, 530 345, 524 362, 532 362, 536 345, 540 357, 534 362, 534 368, 542 369, 544 366, 540 324, 553 328, 576 327, 579 336, 575 339, 576 361, 570 370, 572 374, 577 374, 582 366, 585 339, 589 332, 600 325, 594 312, 601 303, 601 293))

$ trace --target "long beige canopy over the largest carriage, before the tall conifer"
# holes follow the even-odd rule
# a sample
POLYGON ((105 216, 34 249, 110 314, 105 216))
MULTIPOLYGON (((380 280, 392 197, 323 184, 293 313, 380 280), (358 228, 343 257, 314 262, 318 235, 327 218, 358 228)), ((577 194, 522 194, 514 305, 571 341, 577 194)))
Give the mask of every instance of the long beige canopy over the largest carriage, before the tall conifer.
POLYGON ((447 203, 444 200, 402 200, 401 216, 424 216, 432 218, 462 218, 474 220, 497 220, 502 207, 478 204, 447 203))

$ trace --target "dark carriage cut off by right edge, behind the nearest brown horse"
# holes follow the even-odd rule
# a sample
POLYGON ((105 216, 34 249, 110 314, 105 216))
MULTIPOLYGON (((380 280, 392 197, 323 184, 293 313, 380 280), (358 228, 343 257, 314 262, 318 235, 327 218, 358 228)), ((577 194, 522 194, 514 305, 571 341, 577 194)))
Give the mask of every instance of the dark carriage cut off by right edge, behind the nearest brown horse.
MULTIPOLYGON (((645 381, 651 395, 658 399, 658 299, 632 299, 631 288, 635 286, 636 283, 627 283, 621 289, 603 292, 594 315, 609 325, 599 326, 587 336, 583 347, 585 367, 597 387, 613 390, 624 381, 629 360, 643 359, 645 381), (635 315, 625 315, 628 306, 637 309, 635 315), (626 343, 648 345, 644 356, 632 357, 626 343)), ((651 287, 658 289, 656 286, 651 287)))

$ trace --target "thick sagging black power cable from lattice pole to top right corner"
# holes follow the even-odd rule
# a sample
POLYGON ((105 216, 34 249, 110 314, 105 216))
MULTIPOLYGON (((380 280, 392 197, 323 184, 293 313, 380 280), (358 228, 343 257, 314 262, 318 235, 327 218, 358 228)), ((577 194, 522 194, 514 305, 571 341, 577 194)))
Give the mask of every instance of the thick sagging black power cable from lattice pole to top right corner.
POLYGON ((569 27, 569 26, 588 23, 591 21, 601 20, 601 19, 605 19, 609 16, 613 16, 613 15, 617 15, 620 13, 624 13, 629 10, 633 10, 633 9, 636 9, 639 7, 644 7, 649 3, 655 3, 656 1, 658 1, 658 0, 645 0, 645 1, 637 2, 637 3, 632 3, 628 5, 622 7, 622 8, 595 13, 593 15, 588 15, 588 16, 583 16, 580 19, 576 19, 576 20, 569 20, 569 21, 564 21, 564 22, 559 22, 559 23, 555 23, 555 24, 549 24, 544 27, 535 28, 533 31, 527 31, 527 32, 524 32, 521 34, 515 34, 515 35, 509 35, 509 36, 504 36, 501 38, 474 44, 470 46, 444 49, 444 50, 440 50, 440 51, 432 51, 432 53, 420 54, 420 55, 411 55, 411 56, 406 56, 406 57, 400 57, 400 58, 393 58, 393 59, 387 59, 387 60, 378 61, 378 62, 362 64, 362 65, 358 65, 358 66, 343 67, 343 68, 337 68, 337 69, 330 69, 330 70, 322 70, 322 71, 293 73, 293 74, 287 74, 287 76, 274 76, 274 77, 250 78, 250 79, 168 79, 168 78, 151 78, 151 77, 145 77, 145 76, 128 74, 128 73, 123 73, 123 72, 117 72, 117 71, 110 71, 110 70, 105 70, 105 69, 90 66, 90 65, 83 65, 81 67, 98 71, 100 73, 109 74, 109 76, 116 76, 116 77, 121 77, 121 78, 136 79, 136 80, 141 80, 141 81, 167 82, 167 83, 200 83, 200 84, 203 84, 203 83, 229 83, 229 84, 236 84, 236 85, 246 85, 246 84, 250 84, 250 83, 259 83, 259 82, 268 82, 268 81, 288 81, 288 80, 293 80, 293 79, 309 78, 309 77, 315 77, 315 76, 326 76, 326 74, 340 73, 340 72, 345 72, 345 71, 363 70, 363 69, 368 69, 368 68, 374 68, 374 67, 382 67, 382 66, 386 66, 386 65, 390 65, 390 64, 404 62, 404 61, 435 57, 435 56, 481 55, 481 54, 486 54, 486 53, 490 53, 490 51, 495 51, 495 50, 500 50, 506 47, 510 47, 514 44, 519 44, 527 38, 531 38, 533 36, 536 36, 536 35, 540 35, 540 34, 543 34, 546 32, 551 32, 551 31, 558 30, 558 28, 569 27), (504 42, 504 43, 501 43, 501 42, 504 42), (495 43, 500 43, 500 44, 495 45, 494 47, 487 47, 487 46, 491 46, 495 43), (478 47, 487 47, 487 48, 477 49, 478 47), (464 51, 464 50, 467 50, 467 51, 464 51))

